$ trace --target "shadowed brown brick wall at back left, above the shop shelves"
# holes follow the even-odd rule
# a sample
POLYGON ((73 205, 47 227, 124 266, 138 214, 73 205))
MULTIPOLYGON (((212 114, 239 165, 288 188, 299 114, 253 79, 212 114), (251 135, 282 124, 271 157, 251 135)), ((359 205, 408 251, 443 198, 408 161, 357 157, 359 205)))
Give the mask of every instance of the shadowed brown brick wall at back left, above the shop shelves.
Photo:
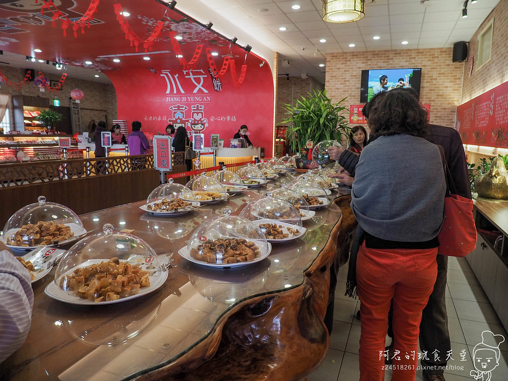
MULTIPOLYGON (((2 70, 2 73, 4 73, 4 75, 13 83, 21 82, 25 76, 24 69, 0 66, 0 70, 2 70)), ((38 71, 36 71, 36 75, 37 73, 38 71)), ((60 77, 56 75, 45 74, 45 76, 50 81, 60 80, 60 77)), ((80 103, 81 123, 84 131, 87 131, 90 119, 95 119, 96 122, 99 120, 107 120, 108 125, 111 126, 111 121, 117 118, 116 92, 111 84, 75 79, 72 78, 71 74, 69 74, 65 83, 63 83, 63 89, 61 91, 57 91, 56 94, 48 90, 41 92, 33 82, 29 82, 22 89, 11 88, 11 86, 6 83, 1 84, 1 86, 0 93, 7 93, 12 96, 22 94, 31 97, 49 98, 50 100, 58 99, 60 100, 60 106, 62 107, 70 107, 69 98, 71 97, 71 90, 80 88, 85 93, 85 98, 83 98, 80 103)), ((50 104, 52 104, 52 102, 50 102, 50 104)), ((9 109, 11 110, 11 126, 14 126, 12 119, 14 114, 12 112, 12 99, 9 109)))

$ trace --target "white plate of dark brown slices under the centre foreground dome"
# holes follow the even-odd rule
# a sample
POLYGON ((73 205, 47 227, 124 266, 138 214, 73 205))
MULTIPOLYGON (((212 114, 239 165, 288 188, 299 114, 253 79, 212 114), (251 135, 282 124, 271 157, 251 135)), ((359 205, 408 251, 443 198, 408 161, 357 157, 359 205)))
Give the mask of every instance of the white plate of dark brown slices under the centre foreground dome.
POLYGON ((187 246, 184 246, 178 250, 178 253, 187 261, 198 265, 220 268, 257 263, 268 257, 271 251, 270 243, 268 243, 268 250, 263 252, 254 240, 224 237, 203 241, 197 248, 190 251, 187 246))

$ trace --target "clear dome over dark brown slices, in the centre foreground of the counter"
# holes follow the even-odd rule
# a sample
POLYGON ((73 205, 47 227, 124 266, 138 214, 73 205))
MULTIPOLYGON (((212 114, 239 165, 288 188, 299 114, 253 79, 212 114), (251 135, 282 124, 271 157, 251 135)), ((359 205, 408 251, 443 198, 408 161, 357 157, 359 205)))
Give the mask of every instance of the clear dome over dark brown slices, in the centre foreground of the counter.
POLYGON ((266 258, 271 246, 261 229, 246 218, 223 215, 201 224, 180 255, 191 262, 210 266, 242 266, 266 258))

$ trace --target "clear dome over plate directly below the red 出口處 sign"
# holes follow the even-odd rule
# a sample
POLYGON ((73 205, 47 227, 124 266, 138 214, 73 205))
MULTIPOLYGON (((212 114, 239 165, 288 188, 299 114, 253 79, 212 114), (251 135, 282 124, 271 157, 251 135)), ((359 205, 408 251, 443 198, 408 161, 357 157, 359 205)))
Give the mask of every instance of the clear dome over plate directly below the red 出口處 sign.
POLYGON ((161 184, 152 190, 143 210, 164 214, 191 211, 200 206, 196 196, 189 188, 169 179, 168 183, 161 184))

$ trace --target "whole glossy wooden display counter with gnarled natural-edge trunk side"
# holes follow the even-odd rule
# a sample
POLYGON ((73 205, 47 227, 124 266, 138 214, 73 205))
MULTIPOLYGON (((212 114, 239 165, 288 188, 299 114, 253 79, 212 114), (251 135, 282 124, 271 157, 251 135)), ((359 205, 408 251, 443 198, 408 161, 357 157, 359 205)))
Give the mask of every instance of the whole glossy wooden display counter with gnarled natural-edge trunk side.
MULTIPOLYGON (((270 187, 278 187, 270 183, 270 187)), ((89 231, 106 223, 135 229, 175 268, 162 288, 111 305, 73 305, 44 294, 55 268, 33 284, 33 320, 23 346, 0 365, 4 380, 300 380, 323 361, 330 267, 347 259, 356 226, 350 196, 304 221, 306 234, 273 244, 270 256, 239 268, 193 264, 177 250, 224 207, 239 214, 266 187, 175 217, 143 212, 143 202, 81 216, 89 231)), ((338 195, 331 196, 333 200, 338 195)))

